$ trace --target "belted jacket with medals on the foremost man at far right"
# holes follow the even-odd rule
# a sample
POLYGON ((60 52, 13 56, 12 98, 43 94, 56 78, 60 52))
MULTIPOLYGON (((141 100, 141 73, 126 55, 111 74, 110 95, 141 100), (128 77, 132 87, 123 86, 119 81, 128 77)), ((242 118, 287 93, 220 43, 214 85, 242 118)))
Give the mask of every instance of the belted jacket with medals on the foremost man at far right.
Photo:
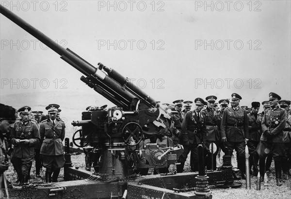
POLYGON ((286 125, 286 111, 285 109, 279 108, 276 106, 274 109, 269 108, 266 110, 263 118, 262 118, 262 135, 260 137, 260 141, 267 141, 273 143, 283 143, 283 129, 286 125), (267 138, 267 135, 264 133, 265 131, 270 131, 273 136, 271 138, 267 138))

